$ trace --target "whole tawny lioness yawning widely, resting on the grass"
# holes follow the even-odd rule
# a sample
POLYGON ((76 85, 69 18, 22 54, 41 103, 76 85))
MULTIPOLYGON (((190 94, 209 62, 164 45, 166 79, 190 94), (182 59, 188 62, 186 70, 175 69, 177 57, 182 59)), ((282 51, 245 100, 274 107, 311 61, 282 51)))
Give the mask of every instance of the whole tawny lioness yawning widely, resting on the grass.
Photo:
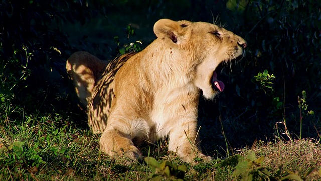
POLYGON ((80 100, 88 107, 89 126, 102 133, 100 149, 111 157, 139 157, 133 140, 169 136, 168 150, 181 160, 210 161, 197 135, 200 90, 206 99, 223 91, 215 69, 243 55, 246 41, 222 27, 161 19, 157 39, 139 53, 108 65, 87 52, 67 60, 80 100), (88 104, 87 104, 88 103, 88 104))

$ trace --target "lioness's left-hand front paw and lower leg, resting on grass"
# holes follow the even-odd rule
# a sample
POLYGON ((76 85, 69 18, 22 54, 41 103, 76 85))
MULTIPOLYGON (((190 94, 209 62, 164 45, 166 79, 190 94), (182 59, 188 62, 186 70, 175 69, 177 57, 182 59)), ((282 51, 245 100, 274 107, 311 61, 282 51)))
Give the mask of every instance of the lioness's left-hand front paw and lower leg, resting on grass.
POLYGON ((140 151, 134 146, 129 135, 114 128, 107 128, 101 135, 100 149, 112 158, 122 155, 136 160, 141 156, 140 151))

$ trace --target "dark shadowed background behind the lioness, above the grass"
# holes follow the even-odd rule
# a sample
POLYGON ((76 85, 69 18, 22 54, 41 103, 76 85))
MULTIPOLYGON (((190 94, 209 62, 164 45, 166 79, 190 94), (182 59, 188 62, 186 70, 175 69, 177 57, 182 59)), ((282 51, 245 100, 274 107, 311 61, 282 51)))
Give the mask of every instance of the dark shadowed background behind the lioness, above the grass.
POLYGON ((200 98, 206 151, 224 152, 225 138, 230 148, 255 139, 288 139, 281 134, 284 125, 277 124, 276 130, 284 120, 291 138, 299 137, 301 123, 303 138, 319 138, 320 12, 320 3, 313 0, 0 1, 0 119, 19 124, 24 114, 52 113, 89 129, 65 70, 68 57, 84 50, 113 59, 137 40, 145 47, 156 38, 153 24, 170 18, 215 22, 248 43, 242 60, 231 68, 218 67, 224 92, 214 101, 200 98), (128 33, 128 25, 134 34, 128 33), (254 80, 264 70, 276 77, 271 88, 254 80), (303 90, 307 109, 300 114, 303 90))

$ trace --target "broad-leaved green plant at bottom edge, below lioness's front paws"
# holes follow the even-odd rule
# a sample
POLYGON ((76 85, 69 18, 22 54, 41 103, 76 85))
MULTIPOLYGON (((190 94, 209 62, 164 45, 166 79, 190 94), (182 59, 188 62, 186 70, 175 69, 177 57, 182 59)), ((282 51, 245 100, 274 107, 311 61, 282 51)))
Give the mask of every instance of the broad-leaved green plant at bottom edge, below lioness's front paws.
POLYGON ((186 180, 185 172, 187 168, 184 165, 178 166, 174 162, 162 161, 159 163, 152 157, 146 157, 145 162, 152 170, 152 174, 149 176, 149 180, 186 180))

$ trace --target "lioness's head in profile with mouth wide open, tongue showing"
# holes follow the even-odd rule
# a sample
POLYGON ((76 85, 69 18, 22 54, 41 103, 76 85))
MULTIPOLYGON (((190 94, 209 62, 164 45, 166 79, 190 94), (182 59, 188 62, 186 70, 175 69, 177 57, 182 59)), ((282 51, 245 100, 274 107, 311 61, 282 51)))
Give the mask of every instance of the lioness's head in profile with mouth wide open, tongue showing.
POLYGON ((224 83, 216 78, 216 67, 243 55, 247 46, 240 36, 206 22, 161 19, 155 23, 154 33, 167 44, 183 50, 179 51, 181 56, 191 63, 189 68, 194 69, 190 72, 195 73, 194 84, 207 99, 224 89, 224 83))

